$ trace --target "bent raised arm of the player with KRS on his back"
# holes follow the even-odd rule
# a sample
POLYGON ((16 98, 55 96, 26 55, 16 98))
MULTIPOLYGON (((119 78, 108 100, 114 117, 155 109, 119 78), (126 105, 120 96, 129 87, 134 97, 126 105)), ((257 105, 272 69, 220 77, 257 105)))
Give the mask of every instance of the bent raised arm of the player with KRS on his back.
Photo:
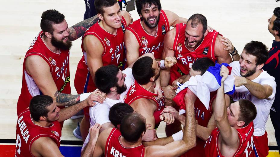
POLYGON ((186 123, 183 131, 183 140, 171 142, 165 146, 148 146, 145 148, 145 156, 175 157, 196 146, 196 121, 194 115, 194 102, 196 95, 188 90, 185 95, 186 123))

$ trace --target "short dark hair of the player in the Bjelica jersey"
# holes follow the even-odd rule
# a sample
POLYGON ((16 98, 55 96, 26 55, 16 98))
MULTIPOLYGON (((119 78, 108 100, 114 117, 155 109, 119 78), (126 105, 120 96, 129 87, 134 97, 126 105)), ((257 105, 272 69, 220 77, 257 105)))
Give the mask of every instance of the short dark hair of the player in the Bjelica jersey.
POLYGON ((48 117, 47 109, 53 103, 52 97, 48 95, 37 95, 30 100, 29 110, 34 121, 38 122, 41 116, 48 117))

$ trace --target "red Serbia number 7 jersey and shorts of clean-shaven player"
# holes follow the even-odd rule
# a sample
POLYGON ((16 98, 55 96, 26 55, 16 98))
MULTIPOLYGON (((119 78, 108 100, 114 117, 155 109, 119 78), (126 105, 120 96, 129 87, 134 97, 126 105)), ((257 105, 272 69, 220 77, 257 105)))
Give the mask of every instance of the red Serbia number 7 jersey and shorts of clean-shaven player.
POLYGON ((124 32, 126 30, 126 20, 122 17, 122 25, 116 29, 116 34, 111 34, 103 29, 99 23, 92 25, 82 38, 82 52, 83 56, 78 63, 74 85, 78 94, 93 92, 96 87, 90 72, 88 71, 87 52, 84 50, 83 41, 87 35, 94 35, 101 42, 104 51, 102 54, 103 66, 116 65, 123 67, 124 63, 124 32))

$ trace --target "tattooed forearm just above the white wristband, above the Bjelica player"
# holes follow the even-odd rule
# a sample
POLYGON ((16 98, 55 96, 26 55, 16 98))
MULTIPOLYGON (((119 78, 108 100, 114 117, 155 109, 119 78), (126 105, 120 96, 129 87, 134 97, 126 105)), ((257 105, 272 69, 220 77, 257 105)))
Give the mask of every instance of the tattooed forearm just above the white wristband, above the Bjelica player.
POLYGON ((59 93, 56 91, 54 97, 56 97, 56 106, 72 106, 77 103, 80 103, 80 95, 71 95, 71 94, 64 94, 59 93))

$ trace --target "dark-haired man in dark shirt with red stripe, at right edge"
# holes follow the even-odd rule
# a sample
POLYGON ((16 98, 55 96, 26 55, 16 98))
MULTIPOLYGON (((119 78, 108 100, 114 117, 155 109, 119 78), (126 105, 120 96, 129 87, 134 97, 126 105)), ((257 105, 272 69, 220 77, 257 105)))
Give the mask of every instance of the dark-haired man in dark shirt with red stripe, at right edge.
MULTIPOLYGON (((280 8, 277 7, 273 11, 272 17, 268 19, 268 30, 275 37, 272 48, 269 50, 269 58, 266 61, 263 70, 267 71, 271 76, 275 77, 276 84, 280 85, 280 8)), ((270 110, 270 118, 275 129, 275 138, 278 149, 280 151, 280 87, 276 87, 276 96, 270 110)))

